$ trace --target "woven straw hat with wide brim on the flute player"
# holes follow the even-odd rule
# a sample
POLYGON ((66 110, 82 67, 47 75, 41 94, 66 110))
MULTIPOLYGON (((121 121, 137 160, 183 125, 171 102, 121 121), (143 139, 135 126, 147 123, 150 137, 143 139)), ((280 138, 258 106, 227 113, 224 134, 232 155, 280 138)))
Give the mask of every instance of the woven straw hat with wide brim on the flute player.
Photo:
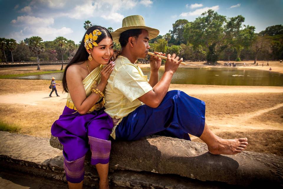
POLYGON ((159 35, 159 30, 147 27, 144 22, 144 17, 141 15, 132 15, 125 17, 122 21, 122 27, 112 32, 113 41, 119 43, 120 34, 126 30, 131 29, 145 29, 148 31, 149 39, 156 38, 159 35))

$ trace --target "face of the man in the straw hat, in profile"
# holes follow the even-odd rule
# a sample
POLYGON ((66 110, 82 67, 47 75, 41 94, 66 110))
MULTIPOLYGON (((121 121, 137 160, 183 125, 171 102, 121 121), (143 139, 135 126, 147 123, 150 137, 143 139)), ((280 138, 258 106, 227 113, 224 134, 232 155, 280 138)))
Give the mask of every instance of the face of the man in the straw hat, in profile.
POLYGON ((134 52, 137 58, 145 58, 147 56, 147 52, 150 48, 148 44, 149 36, 147 30, 142 30, 142 33, 139 35, 134 42, 134 52))

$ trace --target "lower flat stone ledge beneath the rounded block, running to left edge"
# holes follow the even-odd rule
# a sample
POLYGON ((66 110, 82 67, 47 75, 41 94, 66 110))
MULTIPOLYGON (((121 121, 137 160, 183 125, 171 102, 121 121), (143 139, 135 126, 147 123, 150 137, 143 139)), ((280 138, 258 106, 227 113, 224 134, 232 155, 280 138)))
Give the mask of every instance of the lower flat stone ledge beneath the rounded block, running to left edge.
MULTIPOLYGON (((48 139, 0 131, 2 170, 40 176, 50 181, 66 182, 63 168, 64 157, 61 154, 62 151, 50 146, 48 139)), ((115 165, 111 167, 113 168, 110 169, 108 179, 113 189, 236 188, 226 183, 203 182, 178 175, 119 170, 115 165)), ((85 188, 98 188, 98 182, 99 177, 95 166, 91 166, 89 160, 86 160, 85 188)))

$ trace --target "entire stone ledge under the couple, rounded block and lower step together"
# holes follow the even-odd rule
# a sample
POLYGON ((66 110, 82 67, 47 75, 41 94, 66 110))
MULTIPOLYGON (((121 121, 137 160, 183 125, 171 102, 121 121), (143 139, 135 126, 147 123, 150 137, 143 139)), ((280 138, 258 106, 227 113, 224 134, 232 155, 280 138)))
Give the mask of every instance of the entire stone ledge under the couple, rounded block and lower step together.
MULTIPOLYGON (((61 154, 48 139, 0 132, 0 166, 4 169, 64 181, 61 154)), ((282 160, 251 151, 211 155, 203 143, 151 136, 112 142, 109 181, 117 189, 235 188, 235 184, 278 188, 283 183, 282 160)), ((87 160, 85 185, 97 188, 98 180, 95 167, 87 160)))

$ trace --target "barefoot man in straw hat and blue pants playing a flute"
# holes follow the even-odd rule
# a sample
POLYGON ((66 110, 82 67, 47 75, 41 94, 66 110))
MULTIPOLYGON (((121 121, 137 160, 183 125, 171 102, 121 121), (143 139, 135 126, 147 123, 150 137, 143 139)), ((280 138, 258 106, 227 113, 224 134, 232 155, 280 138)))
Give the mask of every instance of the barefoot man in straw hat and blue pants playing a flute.
POLYGON ((112 117, 115 125, 111 136, 114 139, 137 140, 159 134, 190 140, 190 133, 200 137, 212 154, 243 151, 248 145, 246 138, 226 140, 210 131, 205 124, 205 102, 182 91, 167 92, 182 58, 175 54, 167 55, 160 81, 160 58, 150 57, 149 81, 135 64, 138 58, 147 56, 150 48, 148 40, 158 34, 157 29, 145 25, 140 15, 124 18, 122 28, 112 33, 113 41, 119 40, 122 50, 105 89, 105 112, 112 117))

